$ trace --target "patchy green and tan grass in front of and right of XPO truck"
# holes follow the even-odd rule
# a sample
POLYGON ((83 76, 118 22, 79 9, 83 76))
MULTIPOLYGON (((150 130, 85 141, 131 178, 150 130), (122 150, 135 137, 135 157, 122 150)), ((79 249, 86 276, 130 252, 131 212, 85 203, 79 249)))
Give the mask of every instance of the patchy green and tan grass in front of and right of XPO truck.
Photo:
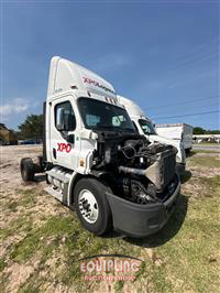
MULTIPOLYGON (((33 265, 36 260, 38 264, 19 284, 18 292, 55 291, 58 285, 64 292, 98 291, 101 282, 85 282, 77 260, 117 253, 136 257, 144 262, 133 282, 114 282, 114 292, 218 292, 220 176, 212 174, 207 177, 202 169, 206 167, 210 175, 216 167, 215 156, 205 153, 201 158, 193 155, 188 160, 189 165, 200 173, 186 178, 176 210, 164 229, 144 239, 121 238, 114 232, 106 237, 94 236, 81 228, 76 214, 70 210, 63 216, 58 213, 45 215, 45 220, 35 226, 37 214, 33 215, 29 209, 38 204, 41 191, 19 189, 20 200, 6 204, 4 209, 13 211, 23 207, 24 211, 12 213, 16 218, 1 230, 0 237, 6 243, 16 235, 23 235, 23 238, 12 242, 0 259, 0 278, 4 280, 0 291, 7 292, 10 280, 6 268, 13 263, 33 265), (198 188, 197 195, 195 187, 198 188), (55 289, 48 289, 52 284, 55 289)), ((54 206, 59 211, 64 209, 55 200, 54 206)))

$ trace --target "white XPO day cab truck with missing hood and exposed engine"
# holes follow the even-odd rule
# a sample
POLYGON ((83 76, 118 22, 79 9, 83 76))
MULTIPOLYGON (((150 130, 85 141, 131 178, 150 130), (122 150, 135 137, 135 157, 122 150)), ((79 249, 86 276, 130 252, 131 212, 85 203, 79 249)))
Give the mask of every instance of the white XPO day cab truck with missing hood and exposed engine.
POLYGON ((21 160, 21 176, 45 172, 46 191, 82 226, 132 237, 158 231, 180 191, 176 148, 140 135, 114 88, 62 57, 51 61, 44 102, 43 155, 21 160))

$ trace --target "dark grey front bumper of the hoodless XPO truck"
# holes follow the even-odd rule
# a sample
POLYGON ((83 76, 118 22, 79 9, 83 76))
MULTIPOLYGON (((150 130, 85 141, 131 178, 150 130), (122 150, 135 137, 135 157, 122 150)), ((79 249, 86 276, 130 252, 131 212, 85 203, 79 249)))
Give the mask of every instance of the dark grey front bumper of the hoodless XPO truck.
POLYGON ((157 232, 173 214, 179 193, 180 183, 165 203, 148 205, 139 205, 107 193, 114 229, 139 238, 157 232))

